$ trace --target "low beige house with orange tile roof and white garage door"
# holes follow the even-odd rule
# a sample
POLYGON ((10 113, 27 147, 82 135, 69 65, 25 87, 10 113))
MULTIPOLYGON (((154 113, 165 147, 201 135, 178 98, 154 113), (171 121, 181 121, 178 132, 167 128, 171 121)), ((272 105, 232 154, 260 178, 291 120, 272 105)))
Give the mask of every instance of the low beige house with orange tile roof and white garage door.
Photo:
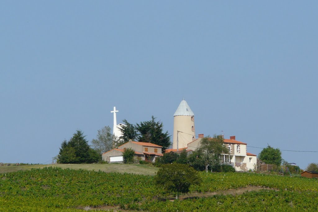
POLYGON ((122 163, 122 153, 126 148, 132 148, 135 150, 134 157, 140 157, 144 161, 155 162, 157 157, 163 156, 162 146, 153 143, 130 140, 116 149, 103 153, 102 158, 104 161, 108 161, 109 163, 122 163))

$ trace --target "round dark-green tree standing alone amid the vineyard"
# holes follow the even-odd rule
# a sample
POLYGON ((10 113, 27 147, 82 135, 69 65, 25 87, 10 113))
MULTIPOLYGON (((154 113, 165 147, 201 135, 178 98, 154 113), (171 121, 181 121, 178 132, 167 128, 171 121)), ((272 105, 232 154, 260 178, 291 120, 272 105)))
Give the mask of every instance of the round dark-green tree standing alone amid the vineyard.
POLYGON ((154 180, 159 188, 175 194, 176 199, 179 199, 181 193, 188 193, 191 185, 201 182, 197 171, 192 167, 177 163, 163 165, 154 180))

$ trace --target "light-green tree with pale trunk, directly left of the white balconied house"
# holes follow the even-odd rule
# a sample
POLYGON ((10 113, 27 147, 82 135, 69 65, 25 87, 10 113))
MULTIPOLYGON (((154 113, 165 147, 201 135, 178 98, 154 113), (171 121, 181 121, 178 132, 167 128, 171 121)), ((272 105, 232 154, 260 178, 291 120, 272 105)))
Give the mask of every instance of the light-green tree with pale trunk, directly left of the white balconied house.
POLYGON ((214 135, 211 137, 204 137, 197 149, 197 153, 201 154, 201 159, 204 163, 206 172, 208 167, 220 166, 221 154, 228 154, 229 150, 224 146, 224 139, 221 135, 214 135))

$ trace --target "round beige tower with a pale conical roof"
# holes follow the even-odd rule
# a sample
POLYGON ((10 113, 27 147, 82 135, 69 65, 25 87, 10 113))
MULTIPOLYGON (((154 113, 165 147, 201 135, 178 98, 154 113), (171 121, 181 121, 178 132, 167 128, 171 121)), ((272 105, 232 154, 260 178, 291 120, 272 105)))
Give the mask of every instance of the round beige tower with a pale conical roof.
POLYGON ((188 143, 195 140, 194 113, 184 99, 173 116, 172 148, 188 147, 188 143))

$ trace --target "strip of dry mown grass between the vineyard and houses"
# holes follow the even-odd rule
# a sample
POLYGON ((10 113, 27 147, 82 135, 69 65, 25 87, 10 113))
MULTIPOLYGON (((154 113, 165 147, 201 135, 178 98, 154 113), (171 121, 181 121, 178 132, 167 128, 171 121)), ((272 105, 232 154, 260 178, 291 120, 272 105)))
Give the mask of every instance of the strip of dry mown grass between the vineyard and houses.
POLYGON ((19 170, 29 170, 31 168, 59 167, 70 169, 87 169, 102 172, 118 172, 132 174, 154 175, 158 168, 144 164, 46 164, 46 165, 24 165, 24 166, 0 166, 0 173, 16 172, 19 170))

